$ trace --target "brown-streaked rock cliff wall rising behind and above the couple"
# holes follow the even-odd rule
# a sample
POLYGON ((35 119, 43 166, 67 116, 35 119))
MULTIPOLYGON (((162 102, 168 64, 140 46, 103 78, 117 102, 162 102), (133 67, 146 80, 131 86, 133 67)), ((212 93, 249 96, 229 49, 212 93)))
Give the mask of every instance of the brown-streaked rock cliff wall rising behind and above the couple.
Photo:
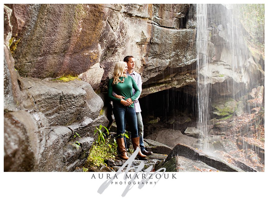
MULTIPOLYGON (((155 78, 161 90, 180 86, 178 80, 185 78, 176 69, 195 61, 194 30, 186 28, 188 4, 7 6, 12 37, 19 41, 14 59, 21 76, 79 75, 99 63, 104 71, 90 78, 101 79, 102 89, 115 62, 133 55, 148 94, 160 88, 150 87, 155 78)), ((193 75, 185 77, 194 82, 193 75)))

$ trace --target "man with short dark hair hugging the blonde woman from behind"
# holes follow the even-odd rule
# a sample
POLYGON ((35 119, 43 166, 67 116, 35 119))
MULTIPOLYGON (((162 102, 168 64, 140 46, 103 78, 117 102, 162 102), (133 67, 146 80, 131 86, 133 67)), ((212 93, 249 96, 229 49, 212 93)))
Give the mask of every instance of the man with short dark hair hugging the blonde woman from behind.
MULTIPOLYGON (((138 88, 141 90, 141 75, 138 74, 137 72, 134 71, 135 68, 135 59, 133 56, 126 56, 123 60, 124 62, 127 62, 127 76, 131 76, 137 83, 138 88)), ((133 89, 133 94, 135 93, 135 90, 133 89)), ((115 92, 113 92, 113 96, 116 98, 124 99, 125 97, 117 95, 115 92)), ((140 148, 141 148, 141 153, 148 156, 151 155, 153 152, 148 152, 145 150, 144 147, 144 142, 143 142, 143 123, 142 123, 142 117, 141 117, 141 107, 139 103, 139 98, 140 96, 137 97, 137 99, 134 101, 134 108, 137 116, 137 123, 138 123, 138 135, 140 137, 140 148)), ((132 104, 132 103, 131 103, 132 104)), ((125 138, 124 138, 125 139, 125 138)), ((125 142, 126 144, 126 142, 125 142)))

